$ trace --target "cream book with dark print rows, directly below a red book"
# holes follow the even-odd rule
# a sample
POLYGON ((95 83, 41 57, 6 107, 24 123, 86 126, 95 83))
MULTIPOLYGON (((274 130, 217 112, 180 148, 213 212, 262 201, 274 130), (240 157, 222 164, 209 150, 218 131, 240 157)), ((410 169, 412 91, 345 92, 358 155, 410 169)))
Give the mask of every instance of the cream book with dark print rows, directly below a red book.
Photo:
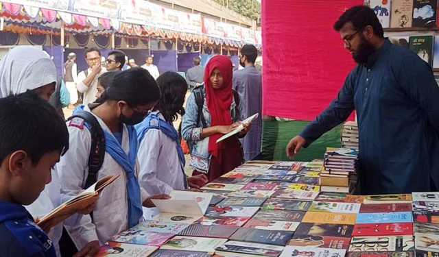
POLYGON ((349 252, 407 251, 414 251, 413 236, 357 236, 349 247, 349 252))

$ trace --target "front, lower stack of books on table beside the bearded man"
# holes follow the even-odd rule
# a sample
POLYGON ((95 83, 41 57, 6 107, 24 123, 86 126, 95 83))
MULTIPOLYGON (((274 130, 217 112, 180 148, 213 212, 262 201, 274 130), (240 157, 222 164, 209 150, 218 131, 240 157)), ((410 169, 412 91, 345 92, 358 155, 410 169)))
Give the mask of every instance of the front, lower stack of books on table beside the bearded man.
POLYGON ((358 152, 350 148, 328 147, 320 172, 320 186, 324 192, 349 193, 357 183, 358 152))

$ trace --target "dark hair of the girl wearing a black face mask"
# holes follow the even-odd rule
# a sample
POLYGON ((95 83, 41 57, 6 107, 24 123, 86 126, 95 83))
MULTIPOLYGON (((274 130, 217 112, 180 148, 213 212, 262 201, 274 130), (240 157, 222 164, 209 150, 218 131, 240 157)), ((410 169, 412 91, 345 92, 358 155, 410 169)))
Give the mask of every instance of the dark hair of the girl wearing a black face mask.
POLYGON ((147 70, 136 67, 117 73, 101 99, 126 101, 132 107, 141 106, 158 101, 160 88, 147 70))

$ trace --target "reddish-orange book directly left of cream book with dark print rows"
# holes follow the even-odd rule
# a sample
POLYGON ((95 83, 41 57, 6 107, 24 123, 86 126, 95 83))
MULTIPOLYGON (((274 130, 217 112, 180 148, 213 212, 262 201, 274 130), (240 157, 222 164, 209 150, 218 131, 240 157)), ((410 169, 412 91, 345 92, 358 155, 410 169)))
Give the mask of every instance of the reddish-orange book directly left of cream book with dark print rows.
POLYGON ((336 236, 293 236, 288 245, 305 247, 324 247, 334 249, 348 249, 351 238, 336 236))

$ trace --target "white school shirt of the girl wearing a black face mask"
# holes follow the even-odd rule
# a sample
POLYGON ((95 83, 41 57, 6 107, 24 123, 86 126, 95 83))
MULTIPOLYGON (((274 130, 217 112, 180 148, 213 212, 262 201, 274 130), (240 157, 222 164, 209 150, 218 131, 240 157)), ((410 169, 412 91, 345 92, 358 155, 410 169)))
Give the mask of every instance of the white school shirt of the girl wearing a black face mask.
MULTIPOLYGON (((88 107, 84 110, 90 112, 88 107)), ((93 114, 102 130, 110 132, 104 121, 93 114)), ((82 119, 75 118, 67 122, 69 130, 69 151, 62 156, 57 169, 62 181, 61 191, 66 195, 78 195, 85 184, 88 175, 88 154, 91 147, 91 134, 82 124, 82 119)), ((111 132, 110 132, 111 133, 111 132)), ((128 154, 130 149, 128 130, 123 125, 122 149, 128 154)), ((139 164, 136 164, 139 171, 139 164)), ((128 230, 128 195, 126 188, 126 173, 123 168, 108 154, 105 153, 102 168, 97 173, 97 180, 108 175, 120 175, 120 178, 99 193, 97 205, 93 210, 93 223, 90 215, 73 215, 74 225, 65 227, 78 249, 86 243, 99 240, 100 244, 106 243, 111 236, 128 230), (76 217, 75 217, 76 216, 76 217)), ((142 202, 149 195, 141 188, 142 202)))

